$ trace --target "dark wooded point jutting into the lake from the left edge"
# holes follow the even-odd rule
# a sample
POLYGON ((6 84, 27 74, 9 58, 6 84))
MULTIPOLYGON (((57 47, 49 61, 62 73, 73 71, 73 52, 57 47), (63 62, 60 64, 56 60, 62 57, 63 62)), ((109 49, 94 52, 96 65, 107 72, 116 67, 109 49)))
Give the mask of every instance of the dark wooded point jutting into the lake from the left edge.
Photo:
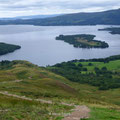
POLYGON ((0 55, 14 52, 15 50, 20 49, 20 48, 21 46, 19 45, 0 43, 0 55))

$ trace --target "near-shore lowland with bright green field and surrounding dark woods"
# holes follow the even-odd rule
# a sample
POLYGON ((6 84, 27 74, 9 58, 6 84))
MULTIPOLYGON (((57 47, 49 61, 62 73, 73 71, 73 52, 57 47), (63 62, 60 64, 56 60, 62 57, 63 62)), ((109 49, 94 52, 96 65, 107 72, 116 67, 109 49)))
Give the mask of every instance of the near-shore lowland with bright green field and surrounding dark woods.
POLYGON ((107 58, 69 61, 58 63, 48 69, 72 82, 89 84, 99 87, 100 90, 108 90, 120 88, 120 60, 118 58, 116 60, 107 58))

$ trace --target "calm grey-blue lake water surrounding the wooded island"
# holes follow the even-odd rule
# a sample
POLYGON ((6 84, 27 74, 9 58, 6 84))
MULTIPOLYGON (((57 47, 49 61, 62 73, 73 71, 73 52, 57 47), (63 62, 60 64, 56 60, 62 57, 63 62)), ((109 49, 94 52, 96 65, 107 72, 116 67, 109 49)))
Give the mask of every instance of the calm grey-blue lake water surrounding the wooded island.
POLYGON ((103 58, 120 54, 120 35, 98 31, 105 27, 111 26, 0 26, 0 42, 17 44, 22 47, 13 53, 0 56, 0 61, 27 60, 46 66, 73 59, 103 58), (55 40, 55 37, 60 34, 93 34, 96 35, 96 40, 106 41, 110 47, 106 49, 74 48, 68 43, 55 40))

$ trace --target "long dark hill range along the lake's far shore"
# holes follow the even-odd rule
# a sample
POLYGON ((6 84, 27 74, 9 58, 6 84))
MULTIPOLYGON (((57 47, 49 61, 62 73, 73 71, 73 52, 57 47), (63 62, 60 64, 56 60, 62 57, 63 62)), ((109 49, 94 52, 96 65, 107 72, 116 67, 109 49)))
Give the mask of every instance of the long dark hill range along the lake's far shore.
POLYGON ((0 24, 30 24, 40 26, 120 25, 120 9, 104 12, 65 14, 48 18, 1 20, 0 24))

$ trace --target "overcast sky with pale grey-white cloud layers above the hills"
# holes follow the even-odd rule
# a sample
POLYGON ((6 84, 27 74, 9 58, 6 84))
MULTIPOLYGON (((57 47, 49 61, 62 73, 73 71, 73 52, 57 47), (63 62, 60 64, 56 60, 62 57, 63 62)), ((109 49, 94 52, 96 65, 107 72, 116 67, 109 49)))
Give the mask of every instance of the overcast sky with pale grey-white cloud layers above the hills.
POLYGON ((0 17, 98 12, 120 8, 120 0, 0 0, 0 17))

